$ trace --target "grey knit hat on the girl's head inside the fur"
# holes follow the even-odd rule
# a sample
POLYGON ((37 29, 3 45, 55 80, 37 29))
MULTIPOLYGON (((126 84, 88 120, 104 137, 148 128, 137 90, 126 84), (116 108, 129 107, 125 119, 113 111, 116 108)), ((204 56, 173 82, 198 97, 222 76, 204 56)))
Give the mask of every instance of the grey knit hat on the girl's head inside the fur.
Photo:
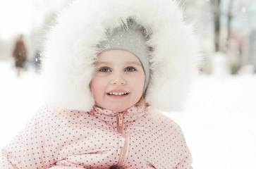
POLYGON ((109 50, 129 51, 140 59, 145 73, 145 85, 143 93, 147 89, 150 80, 150 62, 148 57, 149 47, 146 44, 146 37, 138 26, 117 27, 111 32, 106 32, 106 41, 98 45, 99 54, 109 50))

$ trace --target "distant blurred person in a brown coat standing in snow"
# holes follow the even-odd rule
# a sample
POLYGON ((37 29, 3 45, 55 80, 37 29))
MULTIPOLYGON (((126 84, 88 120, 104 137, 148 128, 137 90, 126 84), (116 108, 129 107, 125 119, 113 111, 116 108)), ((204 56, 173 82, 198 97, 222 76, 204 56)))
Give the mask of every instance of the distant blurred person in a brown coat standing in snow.
POLYGON ((13 58, 15 59, 15 66, 18 70, 18 76, 20 76, 20 70, 24 68, 25 61, 27 59, 25 44, 23 42, 23 35, 20 35, 15 44, 13 49, 13 58))

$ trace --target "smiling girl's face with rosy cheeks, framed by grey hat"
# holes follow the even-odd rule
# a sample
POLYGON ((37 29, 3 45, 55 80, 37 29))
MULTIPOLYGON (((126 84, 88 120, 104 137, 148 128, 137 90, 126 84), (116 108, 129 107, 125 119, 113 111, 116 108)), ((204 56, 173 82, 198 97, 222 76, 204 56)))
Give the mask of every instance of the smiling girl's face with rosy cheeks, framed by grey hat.
POLYGON ((121 112, 138 103, 145 74, 137 56, 122 50, 104 51, 95 66, 90 84, 98 106, 121 112))

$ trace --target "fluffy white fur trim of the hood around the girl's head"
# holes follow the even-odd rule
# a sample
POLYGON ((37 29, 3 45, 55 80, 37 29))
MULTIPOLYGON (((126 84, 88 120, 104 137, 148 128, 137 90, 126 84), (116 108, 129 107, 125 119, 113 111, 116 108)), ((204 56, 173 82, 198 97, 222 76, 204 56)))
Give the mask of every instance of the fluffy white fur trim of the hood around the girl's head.
POLYGON ((90 111, 96 45, 107 29, 127 18, 152 32, 148 44, 150 84, 145 100, 160 111, 180 111, 197 75, 199 49, 190 25, 171 0, 76 0, 48 34, 43 59, 49 101, 61 108, 90 111))

